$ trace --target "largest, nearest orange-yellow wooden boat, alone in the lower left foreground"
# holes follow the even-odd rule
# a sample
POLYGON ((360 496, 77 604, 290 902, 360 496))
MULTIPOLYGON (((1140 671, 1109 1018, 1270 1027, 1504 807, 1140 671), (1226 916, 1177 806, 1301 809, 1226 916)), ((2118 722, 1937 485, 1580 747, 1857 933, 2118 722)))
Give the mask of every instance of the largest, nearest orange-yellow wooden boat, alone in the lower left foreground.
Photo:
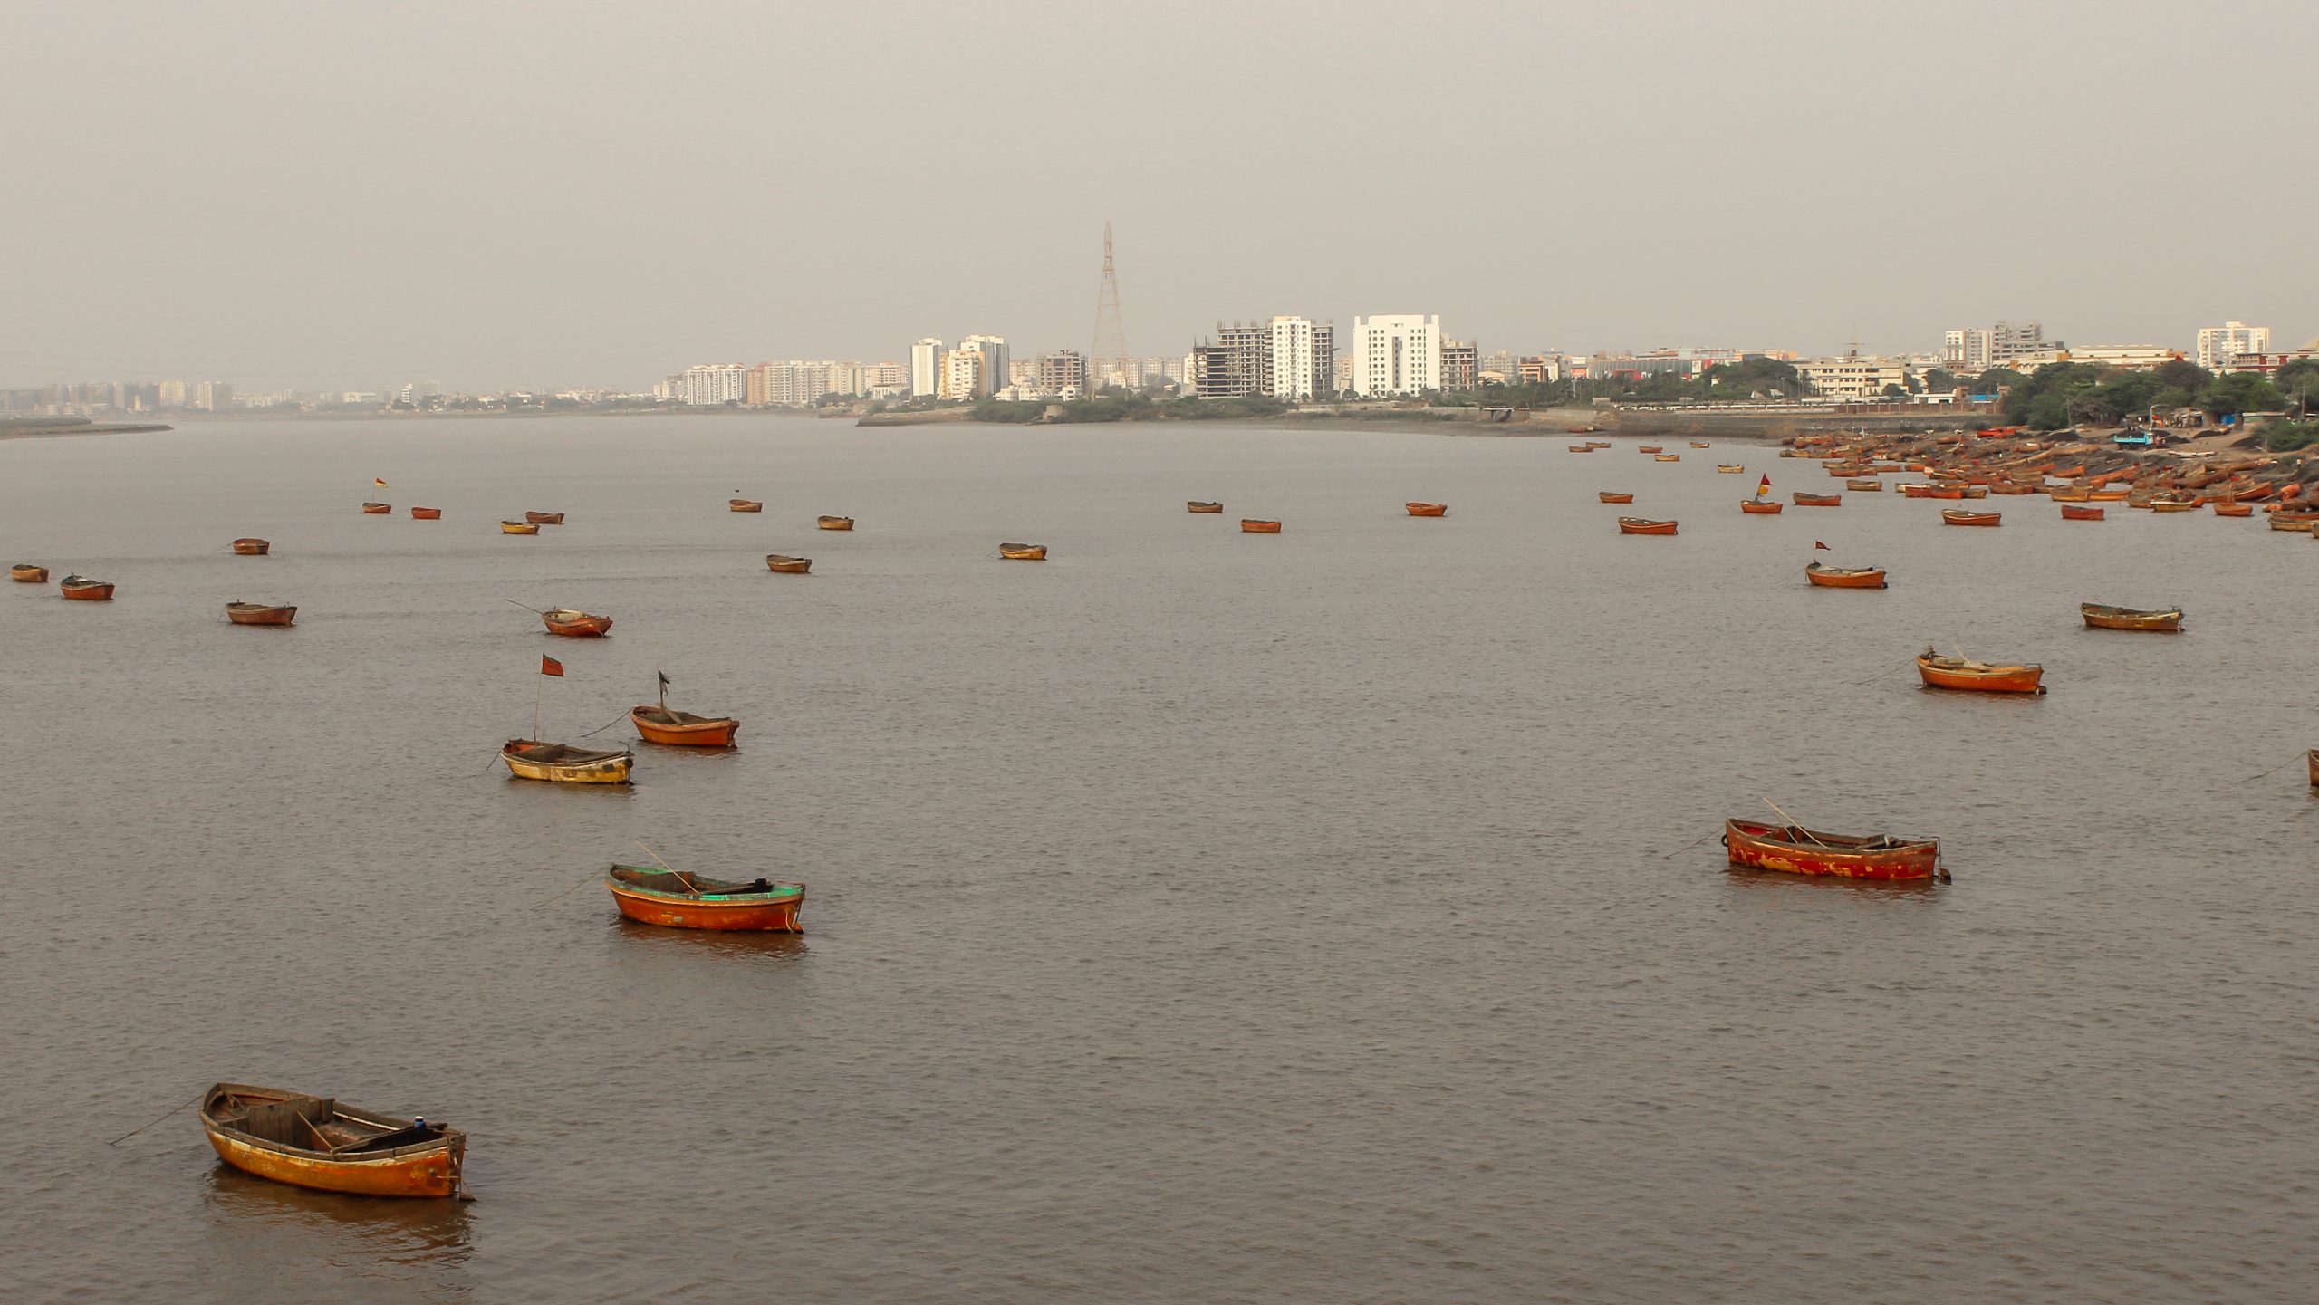
POLYGON ((202 1094, 202 1131, 243 1173, 350 1196, 457 1196, 466 1159, 459 1129, 246 1082, 202 1094))

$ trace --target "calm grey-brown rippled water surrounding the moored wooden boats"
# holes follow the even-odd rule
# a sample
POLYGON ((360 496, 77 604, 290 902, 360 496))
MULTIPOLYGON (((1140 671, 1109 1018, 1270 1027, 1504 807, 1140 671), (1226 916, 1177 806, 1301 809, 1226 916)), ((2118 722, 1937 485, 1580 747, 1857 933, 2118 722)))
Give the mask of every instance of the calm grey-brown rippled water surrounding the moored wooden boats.
POLYGON ((1760 471, 1830 482, 1563 443, 0 443, 0 561, 121 584, 0 591, 0 1296, 2319 1293, 2312 540, 1742 517, 1760 471), (1598 489, 1684 533, 1616 535, 1598 489), (526 508, 570 524, 499 535, 526 508), (1809 589, 1816 538, 1895 586, 1809 589), (2052 693, 1925 693, 1932 640, 2052 693), (547 737, 626 742, 656 668, 740 751, 638 744, 633 790, 496 765, 536 691, 547 737), (1762 797, 1936 834, 1955 883, 1725 869, 1762 797), (807 934, 624 925, 594 878, 638 839, 805 878, 807 934), (471 1129, 480 1201, 257 1182, 190 1113, 107 1145, 220 1078, 471 1129))

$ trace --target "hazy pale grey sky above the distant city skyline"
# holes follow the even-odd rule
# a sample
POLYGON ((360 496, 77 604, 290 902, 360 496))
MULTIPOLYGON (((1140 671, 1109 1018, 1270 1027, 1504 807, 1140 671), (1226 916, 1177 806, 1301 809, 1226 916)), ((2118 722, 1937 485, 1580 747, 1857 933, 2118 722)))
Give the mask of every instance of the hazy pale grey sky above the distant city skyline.
POLYGON ((2319 334, 2319 2, 0 0, 0 385, 2319 334))

